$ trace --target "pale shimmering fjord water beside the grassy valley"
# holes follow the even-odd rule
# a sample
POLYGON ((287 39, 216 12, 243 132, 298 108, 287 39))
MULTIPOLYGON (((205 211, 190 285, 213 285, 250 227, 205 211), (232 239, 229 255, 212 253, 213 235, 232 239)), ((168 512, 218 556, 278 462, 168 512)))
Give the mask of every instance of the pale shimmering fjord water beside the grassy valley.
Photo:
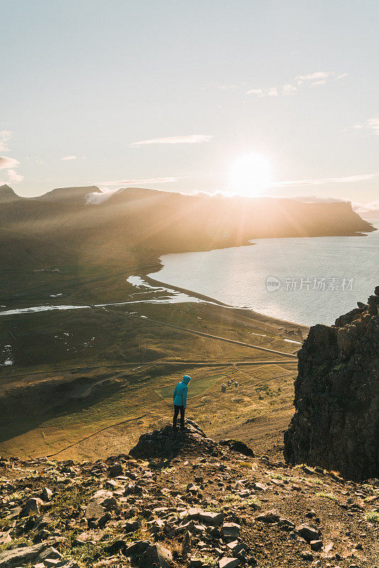
MULTIPOLYGON (((370 222, 379 229, 379 219, 370 222)), ((251 242, 253 246, 162 256, 163 268, 150 276, 304 325, 333 324, 356 302, 366 302, 379 285, 379 230, 365 236, 251 242), (268 290, 268 277, 280 280, 278 290, 268 290)))

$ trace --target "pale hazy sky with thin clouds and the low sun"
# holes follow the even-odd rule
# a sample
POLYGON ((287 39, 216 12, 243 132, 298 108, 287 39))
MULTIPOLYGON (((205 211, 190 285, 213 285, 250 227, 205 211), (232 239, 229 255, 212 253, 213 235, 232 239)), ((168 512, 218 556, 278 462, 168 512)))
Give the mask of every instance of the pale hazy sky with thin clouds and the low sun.
POLYGON ((3 0, 0 182, 379 200, 377 0, 3 0))

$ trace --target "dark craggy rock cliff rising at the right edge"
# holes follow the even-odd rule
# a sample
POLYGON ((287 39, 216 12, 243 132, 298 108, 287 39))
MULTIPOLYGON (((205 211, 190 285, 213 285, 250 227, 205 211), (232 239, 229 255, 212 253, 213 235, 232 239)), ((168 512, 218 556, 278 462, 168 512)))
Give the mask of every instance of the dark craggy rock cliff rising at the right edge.
POLYGON ((315 325, 299 352, 285 459, 379 477, 379 286, 368 304, 315 325))

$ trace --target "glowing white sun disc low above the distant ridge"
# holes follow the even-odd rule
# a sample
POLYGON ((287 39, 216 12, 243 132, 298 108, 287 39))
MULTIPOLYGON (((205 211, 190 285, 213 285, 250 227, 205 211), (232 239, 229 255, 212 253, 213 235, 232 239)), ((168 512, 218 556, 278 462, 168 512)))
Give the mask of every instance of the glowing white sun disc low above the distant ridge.
POLYGON ((238 195, 254 197, 270 185, 270 163, 264 155, 251 152, 241 155, 231 165, 231 189, 238 195))

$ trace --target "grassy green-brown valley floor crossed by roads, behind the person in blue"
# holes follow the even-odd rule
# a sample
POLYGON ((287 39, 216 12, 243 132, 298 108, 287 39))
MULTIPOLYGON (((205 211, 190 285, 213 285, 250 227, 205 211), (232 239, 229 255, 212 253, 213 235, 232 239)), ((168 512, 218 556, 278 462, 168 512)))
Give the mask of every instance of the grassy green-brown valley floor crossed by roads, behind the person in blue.
POLYGON ((1 455, 125 452, 141 431, 171 420, 184 373, 192 376, 187 414, 212 437, 234 432, 263 452, 281 446, 306 327, 197 295, 182 302, 188 291, 141 279, 136 286, 118 272, 103 277, 100 285, 91 274, 78 287, 70 274, 38 274, 40 285, 6 302, 3 311, 88 307, 0 315, 0 344, 13 362, 0 367, 1 455))

